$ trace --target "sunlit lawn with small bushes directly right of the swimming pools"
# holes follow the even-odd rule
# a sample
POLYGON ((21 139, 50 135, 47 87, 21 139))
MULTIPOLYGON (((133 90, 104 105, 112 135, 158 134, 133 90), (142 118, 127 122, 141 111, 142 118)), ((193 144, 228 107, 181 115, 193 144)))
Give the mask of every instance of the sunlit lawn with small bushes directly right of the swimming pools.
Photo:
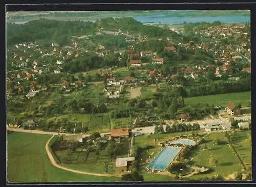
MULTIPOLYGON (((208 174, 200 174, 190 177, 191 179, 197 179, 199 177, 210 177, 212 175, 222 175, 226 177, 234 172, 241 171, 242 165, 236 154, 233 154, 233 150, 227 144, 214 145, 214 140, 227 142, 224 132, 212 132, 205 137, 205 143, 200 144, 199 147, 193 152, 193 161, 195 165, 202 167, 210 167, 209 158, 212 156, 218 161, 217 167, 213 167, 214 171, 208 174), (205 149, 206 145, 206 150, 205 149)), ((248 155, 250 156, 250 155, 248 155)))

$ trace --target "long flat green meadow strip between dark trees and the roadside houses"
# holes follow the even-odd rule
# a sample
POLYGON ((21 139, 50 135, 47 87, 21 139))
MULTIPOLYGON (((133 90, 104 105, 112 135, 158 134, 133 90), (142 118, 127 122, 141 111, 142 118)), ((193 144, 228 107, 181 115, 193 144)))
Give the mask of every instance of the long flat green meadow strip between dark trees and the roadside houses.
POLYGON ((185 104, 209 103, 226 106, 229 102, 241 103, 246 107, 251 101, 251 92, 238 92, 184 98, 185 104))

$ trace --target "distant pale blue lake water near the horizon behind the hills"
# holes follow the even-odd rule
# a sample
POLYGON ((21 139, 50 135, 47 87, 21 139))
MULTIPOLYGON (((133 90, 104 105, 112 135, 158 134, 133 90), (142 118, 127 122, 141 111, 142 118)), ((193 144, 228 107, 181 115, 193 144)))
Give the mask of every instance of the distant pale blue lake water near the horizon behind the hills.
MULTIPOLYGON (((184 14, 184 13, 183 13, 184 14)), ((154 15, 148 15, 148 16, 133 16, 134 19, 137 21, 140 21, 142 23, 155 23, 159 24, 182 24, 184 21, 187 23, 191 22, 214 22, 214 21, 220 21, 223 23, 240 23, 240 22, 250 22, 250 16, 245 15, 225 15, 225 16, 197 16, 197 17, 172 17, 170 15, 163 15, 163 14, 154 14, 154 15)), ((24 24, 26 22, 29 22, 31 20, 20 20, 20 21, 14 21, 16 24, 24 24)), ((87 21, 87 20, 82 20, 87 21)), ((95 22, 95 20, 89 20, 92 22, 95 22)))

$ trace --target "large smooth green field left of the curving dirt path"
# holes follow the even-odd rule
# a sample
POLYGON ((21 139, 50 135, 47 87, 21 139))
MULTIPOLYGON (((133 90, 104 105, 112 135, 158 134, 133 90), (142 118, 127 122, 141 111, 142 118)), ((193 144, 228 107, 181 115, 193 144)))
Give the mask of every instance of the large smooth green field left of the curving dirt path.
POLYGON ((115 177, 76 174, 52 166, 45 150, 50 137, 24 132, 7 135, 9 182, 120 181, 115 177))

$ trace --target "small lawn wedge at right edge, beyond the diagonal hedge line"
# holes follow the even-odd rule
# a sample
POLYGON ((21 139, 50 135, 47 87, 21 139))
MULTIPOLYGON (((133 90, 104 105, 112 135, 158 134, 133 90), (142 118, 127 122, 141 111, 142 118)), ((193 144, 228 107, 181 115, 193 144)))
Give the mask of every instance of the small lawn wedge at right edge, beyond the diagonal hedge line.
POLYGON ((234 133, 232 141, 246 169, 249 169, 251 167, 251 131, 234 133))

